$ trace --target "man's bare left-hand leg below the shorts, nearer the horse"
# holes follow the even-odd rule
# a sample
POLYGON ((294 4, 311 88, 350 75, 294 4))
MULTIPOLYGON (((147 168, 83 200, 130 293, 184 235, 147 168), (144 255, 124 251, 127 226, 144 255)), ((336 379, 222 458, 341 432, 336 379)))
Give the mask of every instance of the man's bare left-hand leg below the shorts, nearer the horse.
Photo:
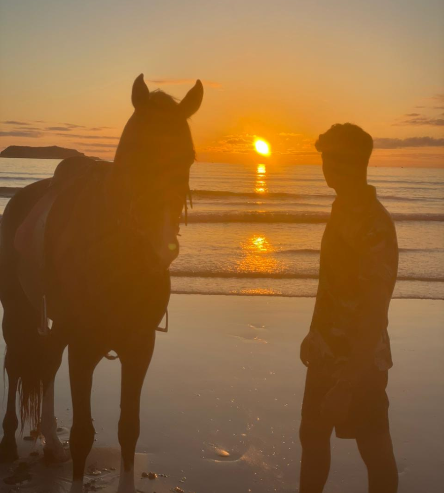
POLYGON ((322 493, 324 490, 330 471, 332 431, 333 426, 302 418, 299 428, 302 445, 300 493, 322 493))

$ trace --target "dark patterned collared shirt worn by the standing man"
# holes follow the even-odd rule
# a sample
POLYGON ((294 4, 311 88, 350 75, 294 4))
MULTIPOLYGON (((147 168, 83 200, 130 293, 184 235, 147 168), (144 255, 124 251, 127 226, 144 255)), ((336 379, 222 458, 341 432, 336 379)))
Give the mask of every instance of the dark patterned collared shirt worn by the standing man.
POLYGON ((367 185, 357 197, 337 197, 321 243, 319 284, 310 326, 310 362, 333 375, 363 330, 380 333, 374 364, 392 366, 388 308, 398 272, 398 243, 390 214, 367 185))

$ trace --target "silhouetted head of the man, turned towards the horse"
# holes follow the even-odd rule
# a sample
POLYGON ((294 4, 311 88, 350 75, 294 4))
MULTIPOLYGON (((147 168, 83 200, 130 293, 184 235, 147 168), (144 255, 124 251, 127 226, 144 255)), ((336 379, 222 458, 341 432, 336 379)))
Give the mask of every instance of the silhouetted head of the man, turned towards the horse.
POLYGON ((367 182, 373 139, 361 127, 335 123, 319 136, 315 147, 322 152, 322 171, 329 187, 346 190, 367 182))

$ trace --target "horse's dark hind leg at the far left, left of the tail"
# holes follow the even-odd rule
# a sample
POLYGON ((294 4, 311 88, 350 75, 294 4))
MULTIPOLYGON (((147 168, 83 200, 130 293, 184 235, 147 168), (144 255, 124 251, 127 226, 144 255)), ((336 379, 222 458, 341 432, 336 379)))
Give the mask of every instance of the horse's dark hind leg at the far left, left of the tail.
POLYGON ((0 463, 13 462, 18 459, 17 443, 15 441, 15 432, 18 426, 15 406, 18 373, 13 367, 11 368, 8 366, 6 366, 6 372, 8 374, 8 403, 6 407, 6 414, 3 419, 4 434, 0 443, 0 463))

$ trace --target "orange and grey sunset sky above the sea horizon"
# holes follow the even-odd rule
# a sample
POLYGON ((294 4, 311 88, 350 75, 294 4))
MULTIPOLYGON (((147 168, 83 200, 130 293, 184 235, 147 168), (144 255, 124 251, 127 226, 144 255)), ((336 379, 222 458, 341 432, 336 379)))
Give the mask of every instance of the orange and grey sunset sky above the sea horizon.
POLYGON ((444 165, 442 0, 2 0, 0 149, 112 158, 134 78, 178 98, 200 161, 320 162, 333 123, 361 125, 378 166, 444 165))

